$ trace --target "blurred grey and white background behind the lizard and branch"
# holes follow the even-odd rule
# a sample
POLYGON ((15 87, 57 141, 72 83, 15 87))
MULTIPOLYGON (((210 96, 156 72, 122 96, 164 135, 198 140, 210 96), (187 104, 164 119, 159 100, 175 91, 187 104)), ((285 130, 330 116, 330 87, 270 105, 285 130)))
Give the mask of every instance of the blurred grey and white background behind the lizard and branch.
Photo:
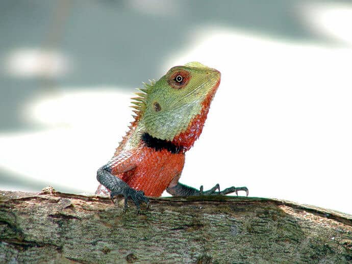
POLYGON ((1 190, 93 193, 131 92, 199 61, 182 183, 352 213, 352 1, 1 1, 0 33, 1 190))

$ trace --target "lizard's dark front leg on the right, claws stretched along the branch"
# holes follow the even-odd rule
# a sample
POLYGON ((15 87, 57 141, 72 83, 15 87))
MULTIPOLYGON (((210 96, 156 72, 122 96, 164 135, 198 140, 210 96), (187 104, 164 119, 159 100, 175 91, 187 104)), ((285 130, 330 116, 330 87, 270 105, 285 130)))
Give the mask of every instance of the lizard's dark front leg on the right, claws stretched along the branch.
POLYGON ((230 187, 225 190, 220 191, 220 186, 217 183, 213 188, 208 191, 203 191, 203 186, 200 186, 199 190, 189 187, 185 184, 179 182, 180 175, 175 177, 169 187, 166 189, 166 192, 171 194, 172 196, 196 196, 196 195, 226 195, 230 193, 236 193, 238 195, 238 191, 245 191, 246 196, 248 196, 248 189, 246 187, 230 187), (218 191, 216 191, 218 190, 218 191))

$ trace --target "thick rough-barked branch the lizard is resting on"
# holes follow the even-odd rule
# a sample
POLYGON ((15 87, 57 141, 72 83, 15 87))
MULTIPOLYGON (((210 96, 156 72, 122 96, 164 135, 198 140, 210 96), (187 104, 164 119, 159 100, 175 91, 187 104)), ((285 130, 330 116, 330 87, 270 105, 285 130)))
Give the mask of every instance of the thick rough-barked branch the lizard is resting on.
POLYGON ((3 263, 352 261, 352 216, 287 201, 207 196, 114 206, 108 197, 0 191, 3 263))

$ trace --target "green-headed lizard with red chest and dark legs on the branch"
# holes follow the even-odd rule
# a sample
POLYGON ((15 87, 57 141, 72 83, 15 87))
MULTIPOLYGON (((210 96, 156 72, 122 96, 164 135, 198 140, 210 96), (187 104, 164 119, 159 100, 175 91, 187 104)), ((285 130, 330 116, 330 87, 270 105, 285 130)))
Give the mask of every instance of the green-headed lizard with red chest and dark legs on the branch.
POLYGON ((172 67, 158 81, 144 83, 132 98, 134 120, 111 160, 99 168, 95 194, 123 195, 124 211, 131 198, 140 212, 147 196, 158 197, 166 190, 172 196, 225 195, 245 191, 230 187, 208 191, 179 182, 188 151, 202 133, 211 101, 219 87, 218 70, 199 62, 172 67), (216 191, 218 190, 218 191, 216 191))

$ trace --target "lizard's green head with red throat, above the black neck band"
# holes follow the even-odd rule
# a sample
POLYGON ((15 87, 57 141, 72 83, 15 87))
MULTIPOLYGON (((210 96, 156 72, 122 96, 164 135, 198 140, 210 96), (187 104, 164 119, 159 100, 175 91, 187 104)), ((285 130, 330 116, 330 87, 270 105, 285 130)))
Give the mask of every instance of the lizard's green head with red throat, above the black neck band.
POLYGON ((187 150, 202 132, 219 84, 220 72, 198 62, 172 67, 134 98, 144 132, 187 150))

